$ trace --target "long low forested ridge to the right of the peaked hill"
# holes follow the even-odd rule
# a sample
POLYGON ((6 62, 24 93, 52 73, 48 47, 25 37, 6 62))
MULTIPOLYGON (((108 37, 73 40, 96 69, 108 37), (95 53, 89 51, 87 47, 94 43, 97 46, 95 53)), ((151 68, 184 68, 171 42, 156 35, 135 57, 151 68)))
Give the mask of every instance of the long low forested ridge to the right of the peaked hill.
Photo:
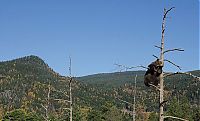
MULTIPOLYGON (((190 71, 196 76, 200 76, 200 70, 190 71)), ((116 97, 123 97, 122 99, 132 102, 132 89, 134 85, 135 75, 137 75, 137 99, 138 102, 144 102, 149 106, 147 110, 155 110, 158 107, 156 104, 155 89, 146 87, 144 85, 145 71, 127 71, 116 73, 95 74, 84 77, 79 77, 77 80, 90 87, 95 87, 94 90, 101 91, 99 94, 106 94, 108 99, 115 99, 116 97), (116 93, 117 92, 117 93, 116 93), (115 94, 116 93, 116 94, 115 94), (154 106, 152 106, 154 104, 154 106)), ((186 96, 191 104, 200 104, 200 82, 188 75, 174 75, 165 79, 165 91, 170 96, 186 96)), ((96 92, 91 91, 88 93, 96 92)), ((90 94, 95 95, 95 94, 90 94)), ((105 97, 105 96, 102 96, 105 97)), ((97 99, 98 101, 98 99, 97 99)), ((158 100, 157 100, 158 101, 158 100)))

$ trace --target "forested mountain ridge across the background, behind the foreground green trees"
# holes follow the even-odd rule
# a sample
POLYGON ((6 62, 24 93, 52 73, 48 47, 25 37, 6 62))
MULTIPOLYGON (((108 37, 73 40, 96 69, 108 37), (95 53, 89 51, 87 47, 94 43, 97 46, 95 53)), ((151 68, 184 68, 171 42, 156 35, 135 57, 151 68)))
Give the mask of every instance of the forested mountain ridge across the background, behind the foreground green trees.
MULTIPOLYGON (((158 96, 153 88, 144 85, 144 73, 145 71, 127 71, 73 78, 72 94, 75 112, 79 112, 79 109, 99 111, 99 107, 110 102, 117 109, 124 109, 125 104, 120 102, 118 98, 132 102, 136 74, 138 75, 137 106, 144 108, 146 112, 157 112, 158 96)), ((200 70, 191 71, 191 73, 200 76, 200 70)), ((45 115, 44 108, 41 105, 47 105, 49 85, 52 101, 50 103, 51 114, 55 116, 62 114, 59 111, 63 103, 55 102, 53 99, 67 100, 66 96, 58 92, 69 94, 69 83, 67 80, 63 81, 63 76, 53 71, 38 56, 26 56, 0 62, 0 74, 6 76, 6 78, 0 79, 0 111, 2 110, 4 114, 15 109, 23 109, 27 112, 36 112, 38 115, 45 115)), ((166 98, 170 100, 167 105, 171 103, 170 97, 177 97, 178 99, 186 97, 191 107, 198 106, 200 98, 197 90, 200 90, 199 84, 187 75, 166 78, 166 98)), ((68 104, 65 105, 69 106, 68 104)), ((64 117, 59 118, 63 120, 64 117)))

